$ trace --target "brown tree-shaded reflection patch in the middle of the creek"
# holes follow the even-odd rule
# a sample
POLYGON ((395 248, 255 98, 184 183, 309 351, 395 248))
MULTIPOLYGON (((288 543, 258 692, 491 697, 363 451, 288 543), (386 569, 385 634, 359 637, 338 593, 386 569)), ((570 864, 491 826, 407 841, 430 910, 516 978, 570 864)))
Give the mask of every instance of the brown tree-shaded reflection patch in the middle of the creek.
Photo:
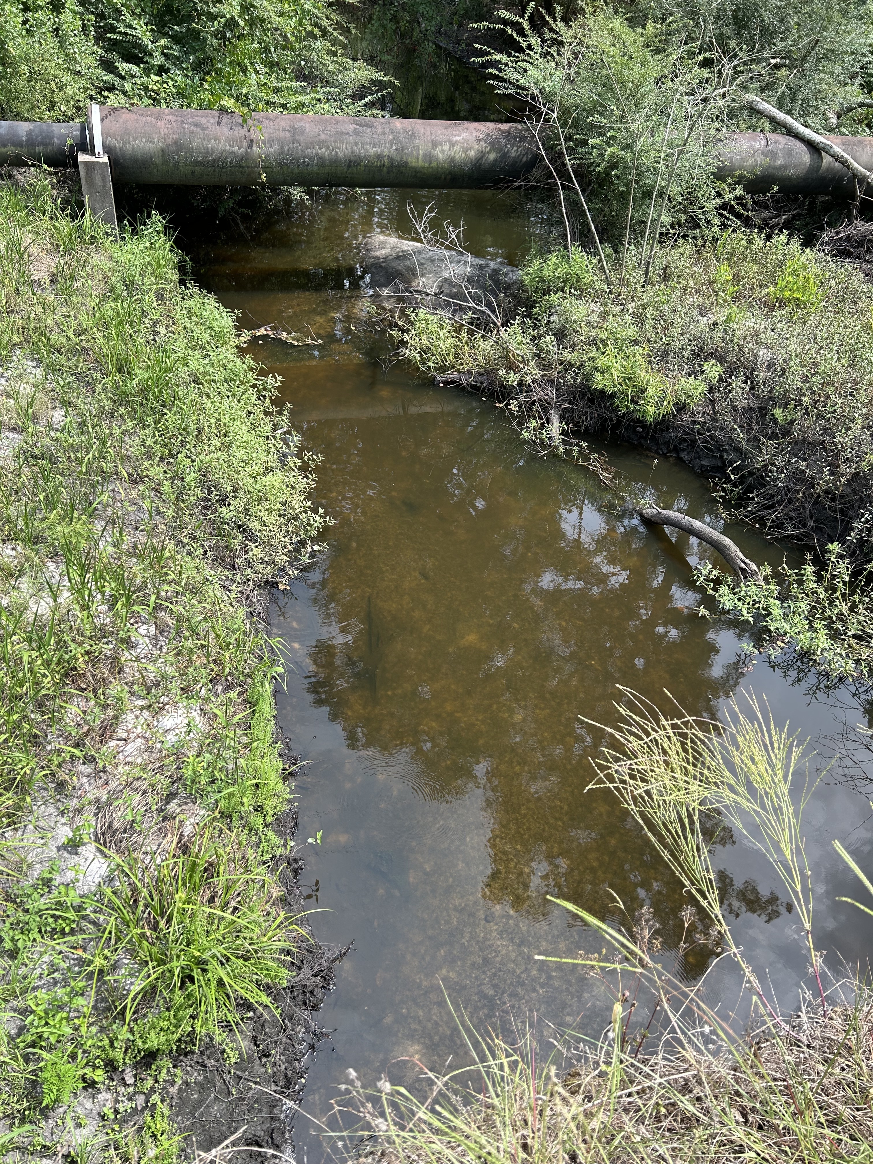
POLYGON ((314 645, 307 690, 348 747, 404 750, 424 796, 482 790, 487 901, 533 920, 548 894, 598 915, 645 897, 669 942, 681 887, 609 794, 583 794, 602 733, 579 716, 613 722, 616 684, 711 715, 736 668, 714 667, 682 567, 604 519, 596 480, 525 456, 499 412, 434 397, 443 411, 304 423, 336 519, 313 598, 342 629, 314 645))

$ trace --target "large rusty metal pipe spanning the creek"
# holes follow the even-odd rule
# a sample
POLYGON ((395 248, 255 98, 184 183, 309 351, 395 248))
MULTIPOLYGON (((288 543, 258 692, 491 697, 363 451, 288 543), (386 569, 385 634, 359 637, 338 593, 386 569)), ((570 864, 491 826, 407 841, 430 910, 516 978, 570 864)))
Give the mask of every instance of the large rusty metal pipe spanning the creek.
MULTIPOLYGON (((539 151, 520 122, 324 118, 101 106, 113 180, 186 186, 476 187, 517 180, 539 151)), ((872 137, 832 137, 873 170, 872 137)), ((0 121, 0 164, 74 164, 84 125, 0 121)), ((853 192, 844 166, 796 137, 729 133, 717 177, 750 192, 853 192)))

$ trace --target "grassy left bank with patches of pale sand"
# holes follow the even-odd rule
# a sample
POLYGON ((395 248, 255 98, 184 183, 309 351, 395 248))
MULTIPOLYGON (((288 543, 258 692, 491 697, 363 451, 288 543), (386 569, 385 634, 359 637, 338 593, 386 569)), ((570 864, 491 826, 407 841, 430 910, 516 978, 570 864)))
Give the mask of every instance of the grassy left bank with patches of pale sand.
MULTIPOLYGON (((0 297, 0 1121, 50 1152, 95 1130, 81 1088, 118 1113, 185 1048, 237 1053, 293 974, 277 667, 246 604, 320 519, 159 221, 116 240, 3 182, 0 297)), ((157 1099, 139 1123, 98 1138, 172 1155, 157 1099)))

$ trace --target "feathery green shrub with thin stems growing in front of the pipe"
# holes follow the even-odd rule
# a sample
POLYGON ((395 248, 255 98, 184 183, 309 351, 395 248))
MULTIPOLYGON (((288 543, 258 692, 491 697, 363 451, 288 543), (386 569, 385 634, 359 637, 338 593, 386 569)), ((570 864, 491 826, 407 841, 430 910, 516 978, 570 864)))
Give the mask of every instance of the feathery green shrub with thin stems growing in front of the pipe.
MULTIPOLYGON (((499 12, 506 49, 482 57, 498 93, 531 109, 562 208, 585 236, 612 246, 634 237, 645 251, 662 228, 721 205, 714 143, 724 127, 724 79, 697 41, 669 23, 637 23, 587 5, 566 19, 528 6, 499 12), (584 187, 582 191, 574 175, 584 187)), ((568 249, 572 246, 567 225, 568 249)))

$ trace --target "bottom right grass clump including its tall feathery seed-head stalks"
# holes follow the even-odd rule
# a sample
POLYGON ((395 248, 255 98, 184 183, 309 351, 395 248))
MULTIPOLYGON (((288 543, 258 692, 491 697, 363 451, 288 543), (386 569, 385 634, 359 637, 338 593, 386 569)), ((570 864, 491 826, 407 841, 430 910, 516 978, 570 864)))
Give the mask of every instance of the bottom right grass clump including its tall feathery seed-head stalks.
MULTIPOLYGON (((737 1020, 736 1008, 723 1013, 721 1003, 707 1000, 708 977, 719 958, 690 984, 658 960, 651 910, 640 909, 619 928, 551 899, 603 941, 599 953, 545 960, 582 966, 608 988, 604 1035, 568 1036, 555 1055, 540 1060, 530 1029, 514 1039, 499 1032, 481 1037, 463 1016, 459 1027, 473 1065, 446 1073, 419 1064, 424 1096, 414 1086, 392 1086, 386 1074, 367 1092, 356 1073, 348 1073, 338 1115, 355 1127, 346 1123, 334 1136, 342 1158, 388 1164, 873 1161, 873 992, 856 977, 825 993, 810 942, 821 1006, 808 1006, 802 996, 797 1012, 786 1018, 778 1014, 722 917, 709 860, 714 830, 719 824, 739 830, 780 872, 811 931, 801 823, 815 783, 799 779, 804 747, 754 698, 748 715, 733 704, 719 724, 681 709, 667 717, 639 696, 625 695, 630 705, 619 709, 622 722, 611 730, 619 747, 604 750, 598 787, 617 793, 709 916, 710 934, 695 934, 695 911, 683 910, 682 947, 701 938, 711 942, 718 929, 719 958, 739 960, 761 1003, 751 1029, 737 1020), (637 1020, 640 1001, 653 1005, 637 1020), (369 1138, 355 1144, 355 1133, 369 1138)), ((873 882, 842 846, 838 851, 873 893, 873 882)), ((669 954, 679 963, 682 949, 669 954)))

